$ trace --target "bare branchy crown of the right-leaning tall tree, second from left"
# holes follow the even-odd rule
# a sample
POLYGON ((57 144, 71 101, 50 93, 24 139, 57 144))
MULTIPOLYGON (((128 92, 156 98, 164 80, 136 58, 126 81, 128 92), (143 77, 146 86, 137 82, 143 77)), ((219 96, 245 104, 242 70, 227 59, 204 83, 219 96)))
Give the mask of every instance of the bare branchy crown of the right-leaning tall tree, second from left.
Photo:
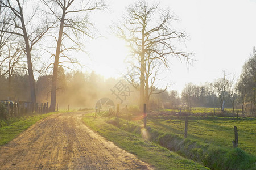
POLYGON ((59 58, 57 53, 65 56, 65 52, 71 50, 84 51, 84 43, 81 40, 88 37, 94 38, 91 31, 93 24, 89 22, 88 12, 103 10, 105 8, 104 1, 40 1, 47 7, 44 12, 54 16, 51 19, 54 20, 55 27, 59 28, 59 37, 55 35, 57 29, 54 33, 49 34, 59 44, 57 45, 59 52, 56 50, 54 56, 59 58))

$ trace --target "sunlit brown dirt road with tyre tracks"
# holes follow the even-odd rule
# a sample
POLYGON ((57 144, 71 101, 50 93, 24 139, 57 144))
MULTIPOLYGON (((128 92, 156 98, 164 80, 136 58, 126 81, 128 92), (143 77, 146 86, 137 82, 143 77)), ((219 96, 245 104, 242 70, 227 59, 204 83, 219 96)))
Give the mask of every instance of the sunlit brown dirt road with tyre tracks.
POLYGON ((37 122, 0 149, 0 169, 151 169, 82 123, 85 112, 37 122))

